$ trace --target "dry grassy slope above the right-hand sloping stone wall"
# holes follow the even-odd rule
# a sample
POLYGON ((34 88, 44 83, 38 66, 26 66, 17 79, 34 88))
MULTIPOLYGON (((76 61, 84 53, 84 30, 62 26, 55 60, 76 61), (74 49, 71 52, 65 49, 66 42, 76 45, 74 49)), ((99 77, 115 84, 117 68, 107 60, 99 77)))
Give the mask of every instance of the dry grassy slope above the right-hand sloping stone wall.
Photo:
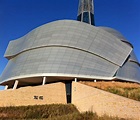
POLYGON ((140 84, 129 82, 81 82, 98 89, 140 101, 140 84))

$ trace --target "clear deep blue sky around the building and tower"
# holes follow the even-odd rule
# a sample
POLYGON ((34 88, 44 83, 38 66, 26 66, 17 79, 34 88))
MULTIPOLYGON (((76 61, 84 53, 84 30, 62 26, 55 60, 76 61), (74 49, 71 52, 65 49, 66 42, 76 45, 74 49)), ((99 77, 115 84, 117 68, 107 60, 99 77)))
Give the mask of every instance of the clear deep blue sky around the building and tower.
MULTIPOLYGON (((79 0, 0 0, 0 74, 10 40, 51 21, 76 20, 79 0)), ((94 0, 96 26, 120 31, 140 61, 140 0, 94 0)))

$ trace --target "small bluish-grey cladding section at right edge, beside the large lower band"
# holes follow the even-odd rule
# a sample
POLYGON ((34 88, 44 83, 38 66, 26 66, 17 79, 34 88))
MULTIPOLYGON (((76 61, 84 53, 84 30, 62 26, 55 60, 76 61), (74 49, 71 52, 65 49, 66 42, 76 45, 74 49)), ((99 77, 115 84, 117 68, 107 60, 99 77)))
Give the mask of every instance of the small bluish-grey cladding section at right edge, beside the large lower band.
POLYGON ((140 83, 140 67, 135 62, 126 62, 123 67, 121 67, 116 78, 122 78, 124 80, 134 81, 140 83))

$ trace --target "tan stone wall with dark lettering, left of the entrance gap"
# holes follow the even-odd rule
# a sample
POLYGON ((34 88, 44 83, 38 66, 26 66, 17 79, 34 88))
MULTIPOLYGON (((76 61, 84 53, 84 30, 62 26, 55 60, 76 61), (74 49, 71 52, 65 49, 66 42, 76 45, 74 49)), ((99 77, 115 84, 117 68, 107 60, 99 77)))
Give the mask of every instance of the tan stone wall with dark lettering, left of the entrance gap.
POLYGON ((1 107, 52 103, 66 103, 64 83, 52 83, 44 86, 22 87, 16 90, 0 91, 1 107))

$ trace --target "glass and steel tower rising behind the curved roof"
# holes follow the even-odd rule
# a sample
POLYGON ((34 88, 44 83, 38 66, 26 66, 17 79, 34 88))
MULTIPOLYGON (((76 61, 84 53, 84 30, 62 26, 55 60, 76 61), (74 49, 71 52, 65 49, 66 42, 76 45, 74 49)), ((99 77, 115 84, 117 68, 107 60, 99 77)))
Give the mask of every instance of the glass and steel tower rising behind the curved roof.
POLYGON ((93 0, 79 0, 77 20, 95 25, 93 0))

